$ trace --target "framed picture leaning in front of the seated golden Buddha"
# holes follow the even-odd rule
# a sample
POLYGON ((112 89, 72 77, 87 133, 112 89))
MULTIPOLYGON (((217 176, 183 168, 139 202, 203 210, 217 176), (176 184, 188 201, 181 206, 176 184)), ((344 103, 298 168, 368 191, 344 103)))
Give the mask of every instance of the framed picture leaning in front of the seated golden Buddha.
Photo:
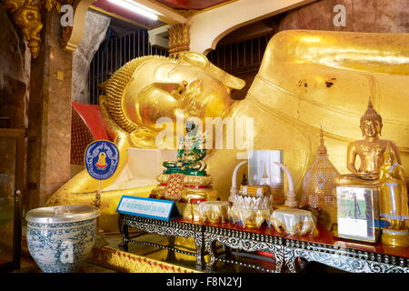
POLYGON ((377 187, 337 186, 338 237, 375 243, 380 235, 377 187))

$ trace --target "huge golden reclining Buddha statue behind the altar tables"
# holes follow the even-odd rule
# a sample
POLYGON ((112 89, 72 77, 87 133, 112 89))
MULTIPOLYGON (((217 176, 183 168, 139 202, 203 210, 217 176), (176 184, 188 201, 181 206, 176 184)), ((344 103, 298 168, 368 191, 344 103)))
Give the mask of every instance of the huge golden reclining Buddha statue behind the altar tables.
MULTIPOLYGON (((253 118, 254 149, 284 150, 284 164, 299 191, 319 146, 320 125, 334 166, 348 173, 347 146, 361 135, 357 125, 371 96, 383 116, 383 137, 394 141, 402 165, 409 168, 408 47, 409 34, 280 32, 267 45, 254 83, 240 101, 232 100, 230 92, 241 89, 244 81, 210 64, 205 55, 136 58, 111 77, 100 96, 106 127, 121 154, 115 176, 102 181, 102 188, 110 186, 124 168, 127 148, 155 147, 156 120, 175 120, 177 108, 201 119, 253 118)), ((214 149, 205 158, 206 171, 224 200, 238 152, 243 149, 214 149)), ((154 187, 103 191, 100 226, 117 231, 115 209, 120 197, 148 196, 154 187)), ((97 181, 83 171, 47 205, 91 204, 96 190, 97 181)))

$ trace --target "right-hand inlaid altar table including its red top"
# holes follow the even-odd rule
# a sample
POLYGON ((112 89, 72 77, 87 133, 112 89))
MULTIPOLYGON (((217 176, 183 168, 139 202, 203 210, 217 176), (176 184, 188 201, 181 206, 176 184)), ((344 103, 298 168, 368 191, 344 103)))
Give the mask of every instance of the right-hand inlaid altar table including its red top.
POLYGON ((214 253, 214 242, 218 241, 244 251, 273 253, 273 272, 276 273, 299 272, 298 258, 352 273, 409 273, 409 247, 355 243, 335 237, 323 226, 319 226, 318 231, 318 236, 290 236, 274 232, 265 225, 259 229, 242 230, 231 224, 207 225, 205 248, 211 256, 207 267, 212 269, 216 260, 227 263, 214 253))

